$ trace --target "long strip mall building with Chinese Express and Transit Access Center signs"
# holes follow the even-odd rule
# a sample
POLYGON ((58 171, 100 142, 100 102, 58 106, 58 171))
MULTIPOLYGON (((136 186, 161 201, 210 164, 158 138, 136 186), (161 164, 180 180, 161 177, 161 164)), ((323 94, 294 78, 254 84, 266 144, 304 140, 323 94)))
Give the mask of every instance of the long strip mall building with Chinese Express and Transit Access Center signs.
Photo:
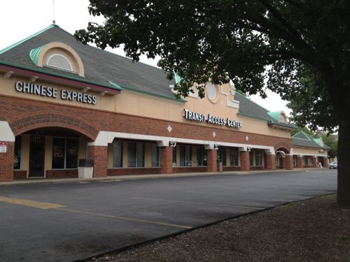
POLYGON ((176 99, 174 84, 56 24, 0 51, 0 181, 78 177, 78 159, 94 177, 326 165, 327 148, 291 138, 284 112, 230 85, 176 99))

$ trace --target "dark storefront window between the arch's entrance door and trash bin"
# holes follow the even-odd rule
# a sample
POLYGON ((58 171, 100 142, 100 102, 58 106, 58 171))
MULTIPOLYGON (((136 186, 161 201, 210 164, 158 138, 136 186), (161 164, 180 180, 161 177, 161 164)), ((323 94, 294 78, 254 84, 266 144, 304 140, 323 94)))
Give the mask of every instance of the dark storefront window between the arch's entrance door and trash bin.
POLYGON ((52 138, 52 169, 78 167, 78 139, 52 138))

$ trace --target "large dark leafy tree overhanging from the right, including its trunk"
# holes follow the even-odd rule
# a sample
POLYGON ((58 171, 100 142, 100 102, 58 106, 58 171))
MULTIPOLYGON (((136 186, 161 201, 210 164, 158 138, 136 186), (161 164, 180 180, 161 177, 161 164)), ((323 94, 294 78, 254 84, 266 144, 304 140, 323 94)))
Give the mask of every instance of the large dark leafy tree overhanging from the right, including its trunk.
POLYGON ((159 55, 183 96, 194 82, 203 95, 209 80, 232 80, 248 94, 307 100, 298 112, 311 128, 339 127, 337 203, 350 207, 350 1, 90 0, 89 10, 105 22, 78 40, 124 44, 136 61, 159 55))

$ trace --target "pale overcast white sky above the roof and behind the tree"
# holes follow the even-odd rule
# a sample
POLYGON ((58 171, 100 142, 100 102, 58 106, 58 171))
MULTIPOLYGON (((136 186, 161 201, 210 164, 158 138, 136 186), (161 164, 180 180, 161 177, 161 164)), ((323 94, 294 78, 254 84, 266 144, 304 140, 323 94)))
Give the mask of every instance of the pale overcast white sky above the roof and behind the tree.
MULTIPOLYGON (((88 6, 88 0, 1 1, 0 50, 48 27, 52 24, 54 17, 56 24, 71 34, 77 29, 85 29, 87 22, 102 24, 102 17, 90 16, 87 10, 88 6)), ((123 48, 115 50, 106 48, 106 50, 125 56, 123 48)), ((143 56, 140 61, 157 66, 158 59, 152 60, 143 56)), ((250 98, 271 112, 282 110, 287 115, 290 114, 290 109, 286 108, 286 101, 282 101, 278 94, 269 90, 267 91, 267 99, 261 99, 258 95, 250 96, 250 98)))

